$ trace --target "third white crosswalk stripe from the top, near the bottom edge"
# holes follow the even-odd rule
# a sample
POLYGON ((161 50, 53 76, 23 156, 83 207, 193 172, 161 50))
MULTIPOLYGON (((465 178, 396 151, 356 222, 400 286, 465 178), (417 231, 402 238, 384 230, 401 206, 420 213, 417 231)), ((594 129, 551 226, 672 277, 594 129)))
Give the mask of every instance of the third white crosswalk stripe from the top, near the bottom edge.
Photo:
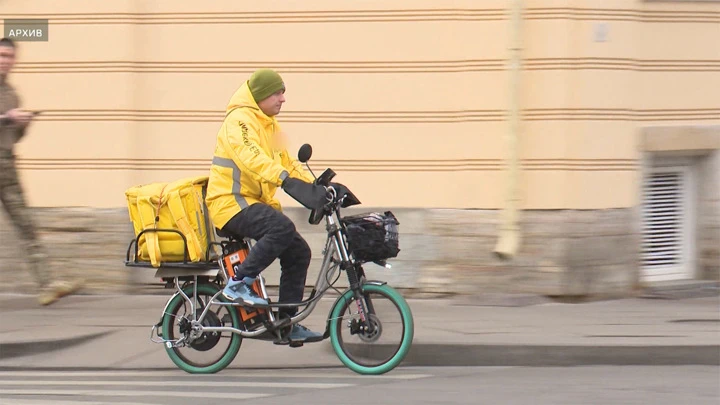
POLYGON ((241 392, 174 392, 174 391, 112 391, 112 390, 48 390, 48 389, 0 389, 0 395, 59 395, 90 397, 178 397, 178 398, 218 398, 250 399, 269 397, 270 394, 246 394, 241 392))

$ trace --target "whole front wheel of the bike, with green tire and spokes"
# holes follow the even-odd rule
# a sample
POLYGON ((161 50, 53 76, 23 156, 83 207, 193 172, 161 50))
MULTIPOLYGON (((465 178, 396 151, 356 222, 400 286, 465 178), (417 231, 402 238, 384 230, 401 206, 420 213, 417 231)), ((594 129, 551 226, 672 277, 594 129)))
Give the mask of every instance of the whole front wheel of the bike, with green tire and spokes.
POLYGON ((388 285, 365 284, 360 307, 347 291, 330 314, 330 341, 340 361, 359 374, 383 374, 400 364, 412 345, 414 324, 405 299, 388 285))

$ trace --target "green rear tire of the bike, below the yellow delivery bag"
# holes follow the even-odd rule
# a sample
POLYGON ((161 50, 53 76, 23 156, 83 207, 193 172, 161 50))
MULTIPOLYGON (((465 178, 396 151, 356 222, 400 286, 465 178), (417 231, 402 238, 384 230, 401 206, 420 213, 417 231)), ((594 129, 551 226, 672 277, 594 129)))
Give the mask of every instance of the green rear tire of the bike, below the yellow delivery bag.
MULTIPOLYGON (((185 294, 187 294, 188 297, 192 298, 193 294, 193 286, 190 285, 186 287, 184 290, 185 294)), ((217 287, 213 287, 209 284, 200 284, 197 286, 198 295, 199 294, 209 294, 210 296, 215 295, 216 292, 218 292, 217 287)), ((225 297, 222 295, 218 296, 218 299, 227 302, 225 297)), ((168 311, 163 315, 163 321, 162 321, 162 333, 163 336, 170 336, 171 329, 173 326, 173 316, 171 314, 174 313, 175 308, 178 305, 182 304, 182 301, 184 300, 184 297, 180 294, 175 296, 175 298, 170 301, 170 304, 168 305, 168 311)), ((232 325, 234 328, 239 329, 240 325, 240 318, 238 317, 237 311, 230 310, 230 317, 232 318, 232 325)), ((181 370, 188 372, 190 374, 213 374, 217 373, 218 371, 224 369, 232 361, 235 359, 235 356, 237 356, 238 351, 240 350, 240 344, 242 343, 242 337, 238 334, 233 333, 232 338, 230 340, 230 346, 228 350, 225 352, 225 354, 218 360, 217 362, 206 366, 206 367, 197 367, 192 364, 188 364, 185 362, 180 356, 177 354, 175 349, 173 347, 167 347, 165 346, 165 351, 167 352, 168 356, 170 357, 170 360, 172 360, 173 363, 175 363, 176 366, 178 366, 181 370)))

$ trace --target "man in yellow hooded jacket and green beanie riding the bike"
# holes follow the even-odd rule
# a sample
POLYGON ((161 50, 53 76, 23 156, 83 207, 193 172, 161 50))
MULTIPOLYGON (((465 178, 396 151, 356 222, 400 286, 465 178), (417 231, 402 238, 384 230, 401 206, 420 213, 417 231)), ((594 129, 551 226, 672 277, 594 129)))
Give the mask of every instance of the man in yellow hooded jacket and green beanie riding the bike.
MULTIPOLYGON (((325 199, 322 186, 286 149, 275 116, 285 102, 285 83, 271 69, 254 72, 230 98, 217 134, 206 204, 218 229, 257 243, 228 280, 223 295, 237 303, 267 306, 252 289, 255 278, 280 258, 280 303, 300 302, 311 251, 275 198, 278 187, 308 208, 325 199)), ((282 308, 293 316, 297 307, 282 308)), ((320 340, 322 335, 295 324, 291 341, 320 340)))

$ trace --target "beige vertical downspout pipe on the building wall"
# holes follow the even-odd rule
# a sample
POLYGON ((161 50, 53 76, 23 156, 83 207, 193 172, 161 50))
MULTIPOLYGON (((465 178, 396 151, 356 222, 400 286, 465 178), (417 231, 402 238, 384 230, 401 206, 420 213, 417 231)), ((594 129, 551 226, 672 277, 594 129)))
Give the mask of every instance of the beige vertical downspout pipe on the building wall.
POLYGON ((522 0, 512 1, 510 43, 509 129, 507 144, 507 188, 502 210, 498 241, 493 253, 502 260, 510 260, 520 248, 520 195, 518 138, 520 137, 520 51, 522 49, 522 0))

